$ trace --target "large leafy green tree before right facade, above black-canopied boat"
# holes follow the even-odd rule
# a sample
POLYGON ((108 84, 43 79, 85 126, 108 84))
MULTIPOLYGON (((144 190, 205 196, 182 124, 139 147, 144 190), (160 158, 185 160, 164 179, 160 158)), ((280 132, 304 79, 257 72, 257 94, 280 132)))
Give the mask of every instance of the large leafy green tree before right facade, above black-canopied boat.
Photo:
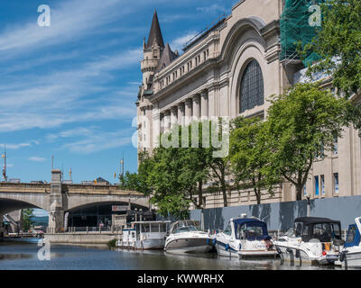
POLYGON ((349 103, 321 90, 319 83, 295 85, 272 103, 267 120, 272 157, 265 171, 271 178, 282 175, 294 184, 297 200, 301 200, 316 155, 331 150, 335 137, 348 124, 349 103))

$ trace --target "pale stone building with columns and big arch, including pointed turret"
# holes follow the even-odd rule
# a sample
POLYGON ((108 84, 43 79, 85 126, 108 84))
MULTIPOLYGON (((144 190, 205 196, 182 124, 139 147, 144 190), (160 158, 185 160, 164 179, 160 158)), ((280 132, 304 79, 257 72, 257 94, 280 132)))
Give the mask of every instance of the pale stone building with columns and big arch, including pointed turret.
MULTIPOLYGON (((136 103, 139 152, 152 152, 160 133, 174 123, 185 125, 215 116, 267 116, 267 100, 299 81, 303 67, 300 61, 279 58, 282 5, 282 0, 239 1, 232 14, 190 41, 181 55, 164 44, 154 13, 148 40, 143 42, 143 85, 136 103)), ((311 198, 361 194, 357 131, 346 128, 336 147, 312 167, 305 187, 311 198)), ((295 198, 294 187, 282 184, 273 196, 264 193, 262 202, 295 198)), ((222 203, 220 193, 206 198, 207 208, 222 203)), ((254 204, 255 195, 231 189, 228 203, 254 204)))

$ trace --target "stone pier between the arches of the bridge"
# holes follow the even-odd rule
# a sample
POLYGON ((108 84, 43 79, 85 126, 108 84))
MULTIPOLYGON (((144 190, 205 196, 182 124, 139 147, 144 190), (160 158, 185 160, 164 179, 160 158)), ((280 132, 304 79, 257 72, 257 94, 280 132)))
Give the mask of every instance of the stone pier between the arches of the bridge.
POLYGON ((61 193, 61 170, 51 170, 51 194, 49 199, 49 232, 58 233, 64 229, 64 208, 61 193))

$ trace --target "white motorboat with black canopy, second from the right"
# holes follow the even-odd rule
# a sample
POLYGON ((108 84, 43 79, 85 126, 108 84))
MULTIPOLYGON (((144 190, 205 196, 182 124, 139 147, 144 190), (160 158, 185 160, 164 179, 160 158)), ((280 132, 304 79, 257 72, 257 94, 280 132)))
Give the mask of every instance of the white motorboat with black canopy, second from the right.
POLYGON ((338 260, 341 223, 319 217, 294 220, 294 228, 273 241, 282 260, 302 264, 327 265, 338 260))

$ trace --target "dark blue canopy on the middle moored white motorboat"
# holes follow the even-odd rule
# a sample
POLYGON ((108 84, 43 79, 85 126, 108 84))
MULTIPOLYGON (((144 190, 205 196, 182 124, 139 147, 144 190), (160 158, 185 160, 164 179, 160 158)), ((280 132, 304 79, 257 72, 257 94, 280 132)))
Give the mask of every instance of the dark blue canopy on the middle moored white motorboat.
POLYGON ((264 221, 252 218, 239 218, 233 220, 235 225, 236 238, 246 238, 247 240, 267 240, 267 224, 264 221))

